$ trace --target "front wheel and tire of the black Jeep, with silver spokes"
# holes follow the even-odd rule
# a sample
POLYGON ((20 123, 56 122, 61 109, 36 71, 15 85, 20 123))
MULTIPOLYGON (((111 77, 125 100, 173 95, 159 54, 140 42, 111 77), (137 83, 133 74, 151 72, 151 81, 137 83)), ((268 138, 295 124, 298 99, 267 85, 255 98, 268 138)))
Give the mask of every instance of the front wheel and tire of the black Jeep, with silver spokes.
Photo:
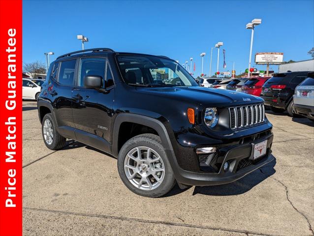
POLYGON ((154 134, 135 136, 123 145, 118 171, 126 187, 144 197, 161 197, 176 183, 161 140, 154 134))

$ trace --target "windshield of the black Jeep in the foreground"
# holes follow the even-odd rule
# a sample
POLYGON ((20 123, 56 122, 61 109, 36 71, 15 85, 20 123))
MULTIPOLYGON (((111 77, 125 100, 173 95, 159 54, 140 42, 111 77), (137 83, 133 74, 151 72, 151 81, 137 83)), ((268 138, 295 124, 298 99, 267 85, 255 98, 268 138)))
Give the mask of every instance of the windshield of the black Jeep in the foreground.
POLYGON ((198 86, 179 63, 154 56, 117 56, 124 81, 132 86, 198 86))

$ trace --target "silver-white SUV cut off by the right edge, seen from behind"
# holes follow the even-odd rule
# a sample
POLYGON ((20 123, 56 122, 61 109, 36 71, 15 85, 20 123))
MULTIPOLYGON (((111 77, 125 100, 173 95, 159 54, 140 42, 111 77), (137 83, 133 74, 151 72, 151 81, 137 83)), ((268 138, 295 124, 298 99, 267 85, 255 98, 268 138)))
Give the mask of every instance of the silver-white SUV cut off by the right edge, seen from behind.
POLYGON ((314 121, 314 71, 309 72, 308 78, 295 88, 292 110, 314 121))

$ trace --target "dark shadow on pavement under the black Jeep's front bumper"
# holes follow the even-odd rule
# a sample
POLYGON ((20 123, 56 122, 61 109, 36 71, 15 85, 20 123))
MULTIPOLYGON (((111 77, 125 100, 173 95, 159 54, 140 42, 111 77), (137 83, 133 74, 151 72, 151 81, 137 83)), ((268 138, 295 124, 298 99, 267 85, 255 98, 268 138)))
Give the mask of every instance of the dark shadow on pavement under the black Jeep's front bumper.
POLYGON ((249 175, 235 182, 215 186, 195 186, 193 195, 203 194, 212 196, 230 196, 246 193, 266 178, 274 175, 276 172, 274 169, 275 165, 276 158, 266 166, 253 171, 249 175))

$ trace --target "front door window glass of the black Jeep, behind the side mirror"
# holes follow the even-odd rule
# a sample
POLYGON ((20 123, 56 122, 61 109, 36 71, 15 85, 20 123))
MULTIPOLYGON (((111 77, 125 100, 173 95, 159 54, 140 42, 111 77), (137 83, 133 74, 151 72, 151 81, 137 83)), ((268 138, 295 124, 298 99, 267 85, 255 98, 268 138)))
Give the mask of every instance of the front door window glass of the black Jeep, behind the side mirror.
POLYGON ((79 67, 77 86, 84 87, 84 78, 88 75, 105 77, 106 59, 104 58, 82 58, 79 67))

